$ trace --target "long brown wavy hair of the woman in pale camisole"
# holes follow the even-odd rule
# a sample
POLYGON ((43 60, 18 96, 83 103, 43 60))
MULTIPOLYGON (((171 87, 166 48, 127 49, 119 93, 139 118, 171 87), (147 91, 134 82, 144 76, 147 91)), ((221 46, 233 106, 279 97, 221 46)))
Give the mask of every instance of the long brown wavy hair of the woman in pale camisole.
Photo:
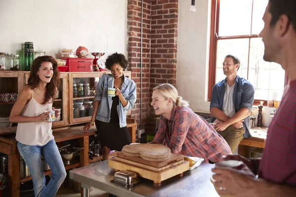
POLYGON ((52 56, 40 56, 33 61, 27 85, 29 85, 32 90, 37 88, 40 81, 37 72, 39 71, 39 68, 41 67, 41 64, 43 62, 50 62, 53 68, 52 78, 50 82, 46 84, 45 99, 43 103, 45 105, 50 100, 51 102, 54 101, 54 98, 57 93, 57 88, 60 86, 60 72, 58 70, 58 64, 52 56))

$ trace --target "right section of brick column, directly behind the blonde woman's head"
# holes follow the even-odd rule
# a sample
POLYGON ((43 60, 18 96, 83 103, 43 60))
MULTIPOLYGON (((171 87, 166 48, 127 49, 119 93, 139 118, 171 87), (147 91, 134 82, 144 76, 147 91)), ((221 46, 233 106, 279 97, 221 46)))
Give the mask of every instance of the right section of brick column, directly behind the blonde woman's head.
MULTIPOLYGON (((176 87, 178 0, 152 0, 150 97, 153 88, 161 83, 176 87)), ((150 107, 149 128, 155 128, 155 113, 150 107)))

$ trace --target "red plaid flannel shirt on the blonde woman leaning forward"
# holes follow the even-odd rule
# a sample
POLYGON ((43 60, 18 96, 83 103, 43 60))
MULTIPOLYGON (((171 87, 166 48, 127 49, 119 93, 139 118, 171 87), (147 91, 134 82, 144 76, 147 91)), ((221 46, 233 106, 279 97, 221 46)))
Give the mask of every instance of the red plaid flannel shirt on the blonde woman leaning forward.
POLYGON ((160 116, 152 143, 166 144, 172 153, 219 162, 231 154, 225 139, 202 117, 185 106, 174 106, 170 120, 160 116))

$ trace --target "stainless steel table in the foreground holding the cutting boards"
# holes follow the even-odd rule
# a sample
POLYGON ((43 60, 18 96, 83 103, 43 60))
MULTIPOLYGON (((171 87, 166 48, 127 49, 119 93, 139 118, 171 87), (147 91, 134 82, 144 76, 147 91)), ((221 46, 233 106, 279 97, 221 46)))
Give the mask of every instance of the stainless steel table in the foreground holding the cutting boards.
POLYGON ((114 169, 108 166, 108 161, 90 164, 70 171, 70 178, 80 182, 83 188, 83 197, 89 197, 89 188, 94 187, 118 197, 219 197, 210 177, 213 164, 202 163, 193 170, 177 175, 161 184, 140 178, 141 182, 125 188, 110 182, 113 179, 114 169))

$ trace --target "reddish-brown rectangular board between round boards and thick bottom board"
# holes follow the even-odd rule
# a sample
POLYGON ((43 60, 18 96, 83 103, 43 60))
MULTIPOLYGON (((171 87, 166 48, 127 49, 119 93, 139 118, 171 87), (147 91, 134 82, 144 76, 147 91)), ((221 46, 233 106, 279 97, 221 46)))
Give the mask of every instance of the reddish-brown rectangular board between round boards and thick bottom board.
POLYGON ((131 161, 134 161, 137 163, 141 163, 141 164, 147 164, 147 165, 154 166, 154 167, 162 167, 162 166, 168 165, 172 162, 177 162, 177 161, 184 159, 183 155, 174 154, 174 153, 171 154, 170 159, 163 161, 163 162, 148 161, 148 160, 144 160, 141 157, 133 157, 133 156, 124 155, 122 152, 118 152, 117 157, 128 159, 128 160, 131 160, 131 161))

